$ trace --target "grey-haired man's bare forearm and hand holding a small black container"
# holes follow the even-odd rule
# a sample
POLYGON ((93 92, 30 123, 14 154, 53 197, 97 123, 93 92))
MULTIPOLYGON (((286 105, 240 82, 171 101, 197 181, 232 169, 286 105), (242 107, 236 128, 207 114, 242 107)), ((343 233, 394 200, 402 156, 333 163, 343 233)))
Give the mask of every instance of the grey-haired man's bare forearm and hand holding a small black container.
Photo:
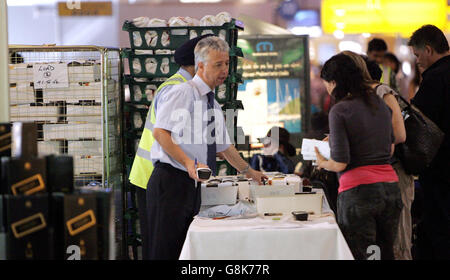
MULTIPOLYGON (((195 161, 189 158, 184 151, 175 144, 172 140, 171 132, 162 128, 153 129, 153 137, 158 141, 159 145, 164 149, 164 151, 169 154, 176 161, 181 163, 184 167, 186 167, 189 176, 197 181, 204 181, 197 177, 197 171, 195 167, 195 161)), ((197 163, 197 167, 205 167, 208 168, 207 165, 202 163, 197 163)))

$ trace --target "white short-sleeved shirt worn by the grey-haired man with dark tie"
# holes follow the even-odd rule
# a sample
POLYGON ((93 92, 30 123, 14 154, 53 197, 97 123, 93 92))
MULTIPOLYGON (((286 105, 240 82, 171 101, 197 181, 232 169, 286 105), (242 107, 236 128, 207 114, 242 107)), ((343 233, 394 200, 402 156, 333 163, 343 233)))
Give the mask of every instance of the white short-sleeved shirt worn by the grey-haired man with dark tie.
MULTIPOLYGON (((186 83, 178 84, 158 94, 155 100, 157 108, 154 128, 171 132, 172 139, 186 155, 199 163, 207 162, 207 143, 213 141, 211 129, 208 129, 207 94, 211 89, 197 75, 186 83)), ((225 119, 219 103, 214 100, 216 151, 223 152, 231 145, 225 119)), ((169 156, 161 145, 155 141, 151 149, 152 162, 171 164, 186 171, 186 168, 169 156)))

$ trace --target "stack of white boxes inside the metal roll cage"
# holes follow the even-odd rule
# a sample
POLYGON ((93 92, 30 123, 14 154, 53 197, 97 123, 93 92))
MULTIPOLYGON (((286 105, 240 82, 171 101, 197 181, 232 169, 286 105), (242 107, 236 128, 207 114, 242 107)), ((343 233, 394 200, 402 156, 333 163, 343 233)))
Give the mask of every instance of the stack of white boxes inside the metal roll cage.
MULTIPOLYGON (((10 64, 11 121, 34 121, 41 125, 38 138, 40 156, 67 153, 74 157, 76 176, 101 176, 101 63, 95 60, 57 62, 67 64, 69 86, 35 89, 33 68, 41 63, 46 62, 10 64)), ((108 80, 107 94, 114 93, 117 88, 115 80, 108 80)))

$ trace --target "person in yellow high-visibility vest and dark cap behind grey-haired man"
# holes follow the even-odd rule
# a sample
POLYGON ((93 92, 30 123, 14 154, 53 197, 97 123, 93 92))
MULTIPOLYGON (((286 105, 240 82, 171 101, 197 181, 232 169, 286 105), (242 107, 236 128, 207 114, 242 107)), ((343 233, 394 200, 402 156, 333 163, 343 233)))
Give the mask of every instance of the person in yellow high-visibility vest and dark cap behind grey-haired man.
POLYGON ((153 124, 155 123, 156 109, 154 104, 156 103, 156 98, 158 98, 158 95, 161 95, 161 93, 169 90, 174 85, 192 80, 192 77, 195 75, 194 48, 198 41, 207 36, 210 36, 210 34, 191 39, 175 50, 175 62, 180 65, 180 69, 156 90, 153 98, 154 102, 152 102, 148 111, 144 131, 142 132, 136 156, 134 157, 133 165, 131 167, 129 180, 133 185, 137 186, 136 196, 138 199, 139 223, 142 235, 142 258, 144 260, 148 259, 148 223, 145 192, 148 180, 153 172, 150 150, 155 141, 153 138, 153 124))

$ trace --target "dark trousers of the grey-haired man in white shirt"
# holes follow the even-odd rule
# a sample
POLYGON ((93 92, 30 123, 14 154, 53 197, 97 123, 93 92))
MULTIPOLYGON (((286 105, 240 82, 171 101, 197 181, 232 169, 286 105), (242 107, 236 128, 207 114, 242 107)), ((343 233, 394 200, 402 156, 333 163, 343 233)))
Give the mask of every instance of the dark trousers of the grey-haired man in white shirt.
POLYGON ((187 172, 157 162, 148 182, 149 259, 177 260, 201 204, 200 186, 187 172))

